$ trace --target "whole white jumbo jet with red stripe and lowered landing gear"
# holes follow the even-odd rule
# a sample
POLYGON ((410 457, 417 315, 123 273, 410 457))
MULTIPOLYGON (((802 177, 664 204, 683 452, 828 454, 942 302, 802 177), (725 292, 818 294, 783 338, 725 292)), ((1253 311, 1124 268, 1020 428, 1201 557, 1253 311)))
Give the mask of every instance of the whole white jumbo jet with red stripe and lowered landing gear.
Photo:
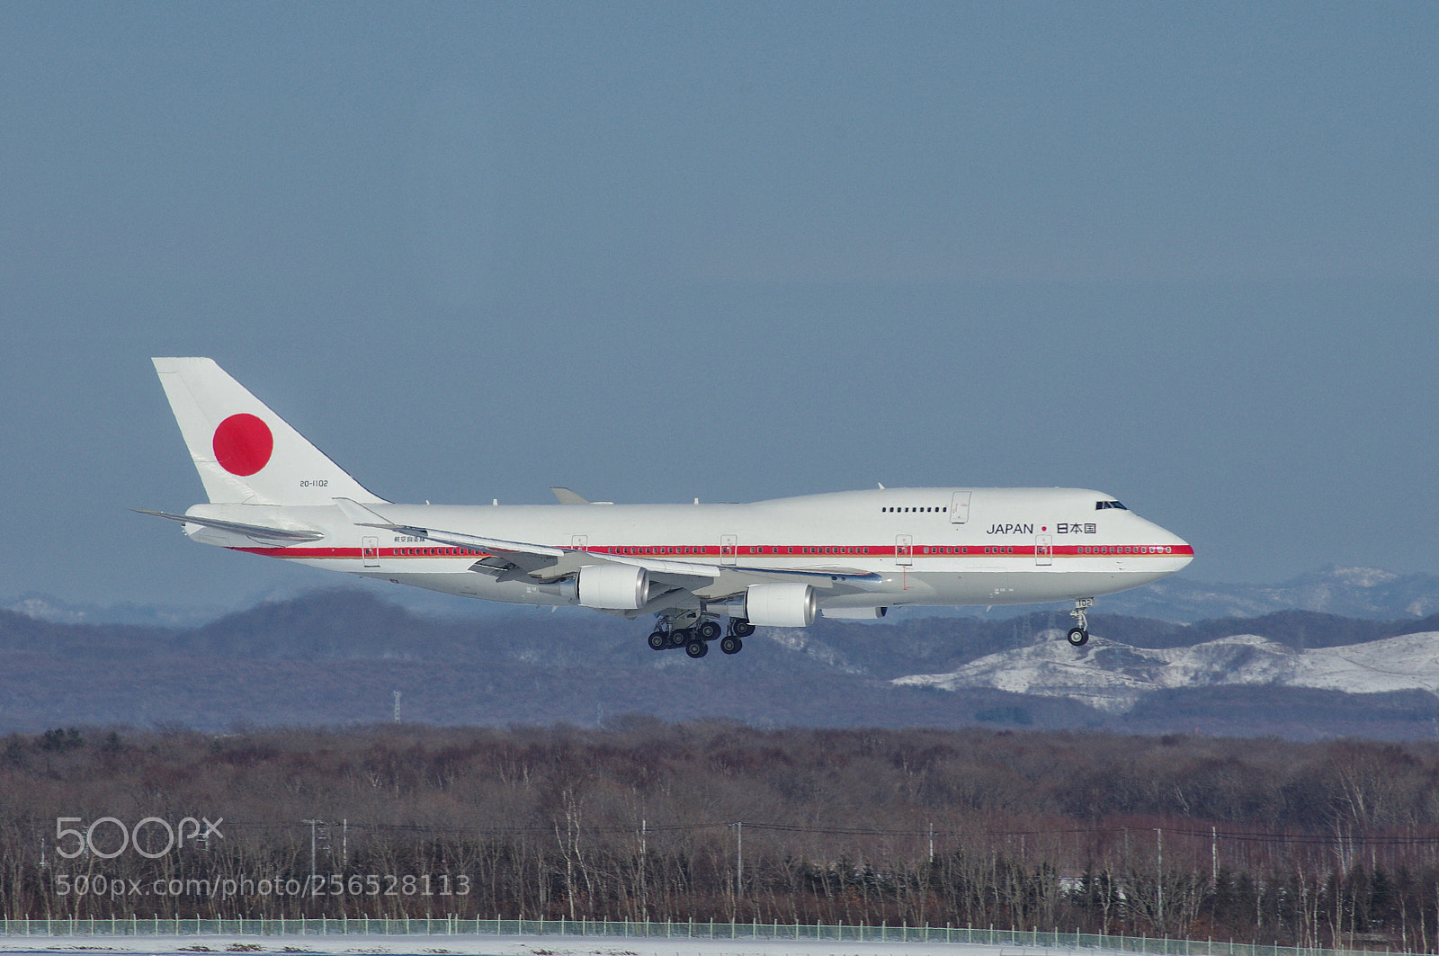
POLYGON ((449 595, 653 615, 649 646, 738 654, 817 613, 1094 599, 1173 574, 1176 534, 1081 488, 879 488, 750 504, 396 504, 367 491, 210 358, 154 358, 207 504, 191 540, 449 595), (727 625, 721 625, 721 618, 727 625))

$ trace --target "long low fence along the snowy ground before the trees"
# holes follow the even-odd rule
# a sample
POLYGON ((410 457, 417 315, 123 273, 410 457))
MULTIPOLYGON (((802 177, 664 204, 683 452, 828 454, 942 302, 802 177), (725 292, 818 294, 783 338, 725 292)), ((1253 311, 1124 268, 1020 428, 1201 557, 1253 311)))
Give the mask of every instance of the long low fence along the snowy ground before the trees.
POLYGON ((1035 949, 1102 949, 1145 956, 1404 956, 1399 950, 1308 949, 1265 946, 1233 940, 1160 939, 999 930, 968 926, 866 926, 863 923, 810 926, 802 923, 656 923, 635 920, 462 920, 453 916, 426 919, 275 917, 206 920, 178 917, 73 917, 12 920, 0 924, 3 936, 623 936, 650 939, 747 939, 853 943, 957 943, 1022 946, 1035 949))

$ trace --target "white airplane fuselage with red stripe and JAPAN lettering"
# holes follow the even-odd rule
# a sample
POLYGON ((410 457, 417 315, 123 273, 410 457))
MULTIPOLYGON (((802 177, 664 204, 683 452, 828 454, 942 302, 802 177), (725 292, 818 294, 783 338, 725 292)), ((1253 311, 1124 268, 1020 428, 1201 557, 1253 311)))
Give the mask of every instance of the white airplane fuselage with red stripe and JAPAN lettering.
MULTIPOLYGON (((830 569, 845 586, 829 593, 819 579, 819 606, 827 609, 1038 603, 1135 587, 1193 560, 1173 533, 1109 495, 1072 488, 891 488, 751 504, 370 507, 396 526, 721 567, 732 580, 709 593, 696 589, 696 605, 721 599, 750 573, 806 572, 813 582, 814 572, 830 569)), ((481 549, 358 527, 337 507, 201 504, 189 514, 256 526, 298 521, 325 533, 275 547, 186 526, 210 544, 485 600, 574 603, 563 587, 476 573, 481 549)))

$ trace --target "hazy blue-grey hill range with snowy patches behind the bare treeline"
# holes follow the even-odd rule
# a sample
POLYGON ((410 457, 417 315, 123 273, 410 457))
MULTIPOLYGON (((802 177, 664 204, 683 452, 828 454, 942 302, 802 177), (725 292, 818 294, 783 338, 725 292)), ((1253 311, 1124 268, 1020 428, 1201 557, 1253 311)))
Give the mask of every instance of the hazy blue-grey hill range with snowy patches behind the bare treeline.
POLYGON ((351 590, 191 628, 56 623, 0 610, 0 731, 373 723, 391 716, 394 691, 401 718, 432 724, 596 726, 648 714, 758 727, 1412 739, 1433 736, 1439 721, 1439 697, 1423 682, 1430 638, 1383 644, 1439 632, 1439 618, 1285 610, 1191 625, 1120 615, 1091 622, 1094 642, 1076 651, 1062 641, 1062 610, 1004 621, 822 619, 804 631, 761 628, 738 657, 714 649, 691 661, 650 651, 643 623, 604 615, 527 609, 439 619, 351 590), (1347 649, 1315 654, 1335 648, 1347 649), (1360 658, 1367 672, 1340 665, 1360 658), (1379 681, 1384 661, 1406 680, 1379 681), (1049 674, 1068 674, 1071 685, 1049 674), (1104 691, 1121 703, 1095 705, 1081 675, 1094 687, 1122 677, 1104 691))

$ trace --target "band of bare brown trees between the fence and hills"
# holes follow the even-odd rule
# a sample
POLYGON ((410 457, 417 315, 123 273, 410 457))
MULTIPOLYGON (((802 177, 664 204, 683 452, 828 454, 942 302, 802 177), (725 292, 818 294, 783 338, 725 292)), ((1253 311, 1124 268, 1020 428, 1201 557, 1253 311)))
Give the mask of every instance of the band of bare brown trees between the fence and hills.
POLYGON ((1432 952, 1439 744, 993 730, 52 729, 24 916, 908 923, 1432 952))

